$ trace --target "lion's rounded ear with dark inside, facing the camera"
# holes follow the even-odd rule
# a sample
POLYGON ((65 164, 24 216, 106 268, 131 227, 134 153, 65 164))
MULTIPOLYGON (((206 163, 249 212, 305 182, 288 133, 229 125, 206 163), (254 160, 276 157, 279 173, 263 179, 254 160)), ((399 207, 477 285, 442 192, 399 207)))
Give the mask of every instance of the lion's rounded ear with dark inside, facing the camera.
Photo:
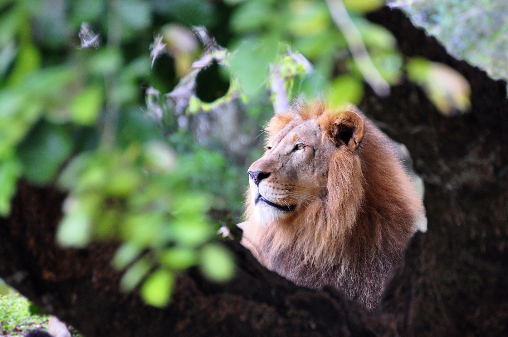
POLYGON ((353 111, 345 111, 334 121, 333 139, 337 145, 345 144, 355 150, 363 138, 363 119, 353 111))

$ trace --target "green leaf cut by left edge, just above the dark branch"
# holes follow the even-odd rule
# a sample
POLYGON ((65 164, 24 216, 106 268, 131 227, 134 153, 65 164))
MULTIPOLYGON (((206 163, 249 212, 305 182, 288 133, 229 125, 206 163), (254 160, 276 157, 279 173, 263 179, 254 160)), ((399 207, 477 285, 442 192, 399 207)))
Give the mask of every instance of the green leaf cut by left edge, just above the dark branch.
POLYGON ((21 163, 14 157, 0 163, 0 215, 6 217, 11 211, 11 199, 16 192, 16 182, 21 175, 21 163))

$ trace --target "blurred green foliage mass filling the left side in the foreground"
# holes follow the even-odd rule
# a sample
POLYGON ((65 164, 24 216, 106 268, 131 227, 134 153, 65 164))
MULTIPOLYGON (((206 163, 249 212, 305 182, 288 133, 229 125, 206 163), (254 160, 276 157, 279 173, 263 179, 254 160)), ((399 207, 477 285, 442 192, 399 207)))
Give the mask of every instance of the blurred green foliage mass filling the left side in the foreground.
POLYGON ((126 269, 122 287, 156 270, 142 287, 156 306, 169 300, 173 270, 205 261, 205 275, 220 281, 234 270, 228 253, 207 244, 218 225, 206 211, 214 193, 228 193, 227 160, 143 112, 147 83, 177 81, 172 68, 150 69, 148 50, 174 20, 213 26, 220 16, 197 0, 0 2, 0 212, 9 214, 18 178, 56 183, 69 191, 58 242, 123 241, 113 261, 126 269), (100 35, 81 30, 80 41, 83 21, 100 35))

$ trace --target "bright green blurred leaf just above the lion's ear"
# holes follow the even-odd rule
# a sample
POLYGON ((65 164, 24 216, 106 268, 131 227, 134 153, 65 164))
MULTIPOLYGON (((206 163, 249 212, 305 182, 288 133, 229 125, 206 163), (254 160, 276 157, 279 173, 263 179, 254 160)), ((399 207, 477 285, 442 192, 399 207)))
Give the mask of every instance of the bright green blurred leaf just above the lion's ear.
POLYGON ((347 103, 359 104, 363 96, 362 82, 351 75, 340 75, 332 82, 330 104, 340 107, 347 103))

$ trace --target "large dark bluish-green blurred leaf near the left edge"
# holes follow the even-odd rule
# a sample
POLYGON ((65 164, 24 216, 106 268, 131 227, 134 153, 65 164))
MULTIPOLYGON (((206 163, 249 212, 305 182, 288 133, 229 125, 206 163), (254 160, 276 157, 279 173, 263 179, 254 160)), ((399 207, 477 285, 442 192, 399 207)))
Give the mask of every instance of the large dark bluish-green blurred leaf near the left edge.
POLYGON ((65 128, 40 124, 18 148, 25 177, 40 185, 50 182, 71 154, 72 147, 71 136, 65 128))

